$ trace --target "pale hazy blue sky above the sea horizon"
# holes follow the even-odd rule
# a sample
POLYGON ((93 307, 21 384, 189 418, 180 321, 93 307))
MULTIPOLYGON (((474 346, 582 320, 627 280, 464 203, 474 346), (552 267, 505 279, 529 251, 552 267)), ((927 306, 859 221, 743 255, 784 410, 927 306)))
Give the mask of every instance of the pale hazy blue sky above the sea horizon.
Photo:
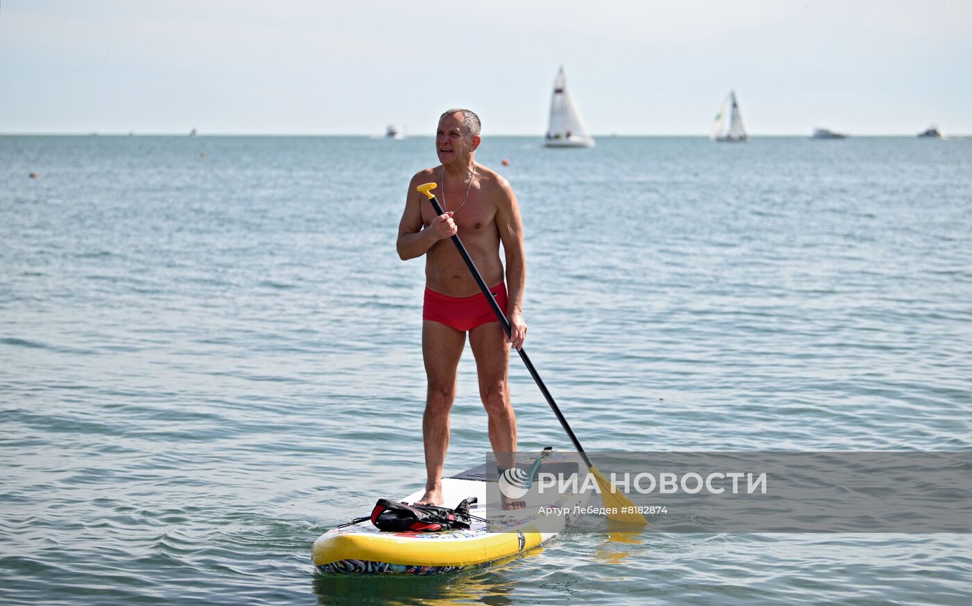
POLYGON ((0 0, 0 133, 972 133, 966 0, 0 0))

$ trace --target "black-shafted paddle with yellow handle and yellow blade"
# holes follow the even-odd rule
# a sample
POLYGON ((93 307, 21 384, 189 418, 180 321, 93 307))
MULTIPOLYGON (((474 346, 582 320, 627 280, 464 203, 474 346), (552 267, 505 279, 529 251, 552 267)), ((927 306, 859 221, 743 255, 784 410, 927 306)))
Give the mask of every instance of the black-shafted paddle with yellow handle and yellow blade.
MULTIPOLYGON (((432 202, 432 206, 435 209, 435 214, 443 215, 445 214, 445 211, 442 210, 442 206, 438 203, 438 200, 435 199, 434 194, 431 192, 431 190, 434 190, 435 187, 436 185, 434 183, 426 183, 415 189, 429 197, 429 201, 432 202)), ((455 244, 456 248, 459 249, 459 254, 462 255, 463 261, 466 262, 466 267, 469 267, 469 271, 472 272, 472 277, 475 278, 476 284, 479 285, 479 290, 481 290, 483 295, 486 296, 486 301, 488 301, 490 307, 493 308, 493 313, 496 314, 496 317, 500 319, 500 323, 503 325, 503 330, 506 332, 506 337, 509 337, 509 320, 506 319, 506 315, 503 313, 503 309, 500 308, 499 303, 496 303, 496 299, 493 298, 493 294, 489 292, 489 286, 487 286, 485 280, 483 280, 483 276, 479 274, 479 269, 476 269, 476 265, 472 263, 472 258, 469 257, 469 252, 467 252, 466 246, 463 245, 463 241, 459 239, 458 233, 452 236, 452 243, 455 244)), ((564 418, 563 412, 560 411, 560 407, 558 407, 557 403, 554 402, 553 396, 550 395, 550 391, 546 388, 546 385, 543 384, 543 379, 540 378, 540 375, 537 373, 537 369, 534 368, 534 364, 527 356, 527 352, 524 351, 522 347, 517 349, 516 352, 520 354, 520 359, 523 360, 523 364, 526 365, 527 370, 530 371, 530 375, 534 377, 534 380, 537 382, 537 386, 540 388, 540 392, 543 394, 543 397, 546 398, 547 404, 549 404, 550 408, 553 409, 553 413, 557 415, 557 420, 560 421, 560 424, 564 427, 567 435, 571 438, 573 446, 584 459, 584 463, 587 465, 588 471, 594 475, 594 479, 598 482, 598 487, 601 489, 601 498, 604 499, 605 508, 608 510, 608 518, 631 524, 647 524, 648 520, 646 520, 642 514, 638 513, 638 507, 631 501, 631 499, 620 492, 615 492, 613 484, 611 484, 610 481, 608 481, 608 479, 605 478, 600 471, 598 471, 598 468, 594 466, 594 463, 591 463, 591 459, 587 456, 587 453, 584 452, 584 447, 580 446, 580 441, 577 440, 575 435, 573 435, 571 425, 567 422, 567 419, 564 418), (626 511, 631 513, 625 513, 626 511)))

